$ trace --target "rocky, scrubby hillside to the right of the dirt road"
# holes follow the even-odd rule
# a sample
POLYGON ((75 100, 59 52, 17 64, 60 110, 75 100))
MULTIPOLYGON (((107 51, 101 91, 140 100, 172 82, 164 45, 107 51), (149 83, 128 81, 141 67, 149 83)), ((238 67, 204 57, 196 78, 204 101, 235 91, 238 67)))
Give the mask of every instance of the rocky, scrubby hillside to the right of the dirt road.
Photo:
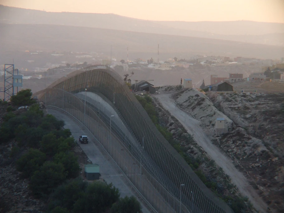
POLYGON ((197 89, 182 89, 172 97, 178 106, 202 122, 213 143, 234 161, 269 207, 284 212, 284 159, 275 151, 283 150, 280 96, 205 94, 197 89), (217 117, 225 118, 228 133, 215 134, 217 117))

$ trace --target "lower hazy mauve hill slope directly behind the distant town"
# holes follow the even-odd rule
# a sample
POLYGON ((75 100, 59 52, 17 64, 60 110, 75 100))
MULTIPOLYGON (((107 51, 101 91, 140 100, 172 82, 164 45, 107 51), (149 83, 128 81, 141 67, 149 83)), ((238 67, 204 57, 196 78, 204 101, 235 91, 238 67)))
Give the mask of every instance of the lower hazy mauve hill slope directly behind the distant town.
POLYGON ((189 36, 41 24, 0 24, 0 29, 1 54, 25 50, 106 52, 112 45, 117 57, 125 58, 126 47, 132 54, 155 56, 160 44, 161 57, 199 53, 279 59, 284 55, 282 47, 189 36))

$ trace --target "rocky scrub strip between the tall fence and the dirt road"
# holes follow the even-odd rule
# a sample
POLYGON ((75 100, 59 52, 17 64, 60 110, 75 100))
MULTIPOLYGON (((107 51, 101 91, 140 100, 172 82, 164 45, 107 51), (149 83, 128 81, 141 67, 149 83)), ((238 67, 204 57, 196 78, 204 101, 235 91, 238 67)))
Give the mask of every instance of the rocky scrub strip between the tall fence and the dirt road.
POLYGON ((257 212, 248 199, 241 196, 230 177, 216 165, 214 160, 208 158, 206 152, 193 140, 182 124, 163 108, 157 98, 153 98, 153 105, 157 111, 159 125, 172 135, 172 138, 166 137, 166 139, 189 163, 205 185, 227 202, 234 212, 257 212))

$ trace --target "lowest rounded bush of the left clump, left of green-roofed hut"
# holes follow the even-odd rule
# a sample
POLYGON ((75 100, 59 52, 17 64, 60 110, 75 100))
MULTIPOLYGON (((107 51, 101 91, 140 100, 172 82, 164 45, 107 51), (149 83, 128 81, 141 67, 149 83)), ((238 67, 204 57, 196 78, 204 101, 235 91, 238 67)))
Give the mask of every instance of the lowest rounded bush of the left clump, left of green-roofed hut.
POLYGON ((46 161, 39 171, 31 176, 30 188, 36 197, 49 195, 65 179, 67 173, 62 163, 46 161))

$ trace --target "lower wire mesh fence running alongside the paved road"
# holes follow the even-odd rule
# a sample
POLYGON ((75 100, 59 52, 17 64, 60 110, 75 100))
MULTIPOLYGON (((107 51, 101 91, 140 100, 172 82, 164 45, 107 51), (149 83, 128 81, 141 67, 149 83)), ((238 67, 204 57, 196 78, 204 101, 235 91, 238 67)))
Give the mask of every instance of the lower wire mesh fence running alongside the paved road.
POLYGON ((78 97, 58 89, 47 89, 37 96, 46 100, 48 109, 59 110, 81 122, 116 162, 128 181, 154 212, 192 212, 159 184, 147 171, 143 161, 140 161, 142 158, 137 160, 138 156, 142 155, 141 149, 136 149, 136 157, 132 154, 134 145, 130 143, 129 135, 124 135, 124 140, 117 137, 121 135, 120 129, 116 126, 117 121, 112 121, 111 119, 114 118, 108 116, 107 112, 96 113, 78 97), (63 101, 63 96, 68 102, 63 101))

